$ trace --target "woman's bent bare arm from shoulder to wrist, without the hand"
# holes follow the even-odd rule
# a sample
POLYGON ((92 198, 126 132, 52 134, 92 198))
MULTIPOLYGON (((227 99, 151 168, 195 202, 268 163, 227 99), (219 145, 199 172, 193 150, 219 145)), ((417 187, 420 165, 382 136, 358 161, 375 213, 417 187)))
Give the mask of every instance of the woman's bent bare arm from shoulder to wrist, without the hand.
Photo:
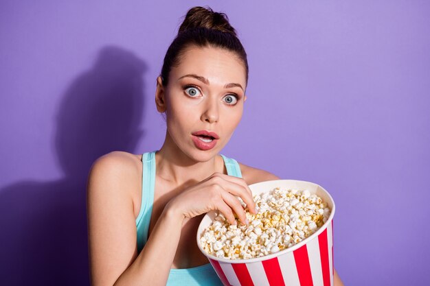
POLYGON ((137 256, 130 158, 113 152, 93 164, 87 186, 91 285, 166 285, 181 235, 179 216, 163 212, 137 256))

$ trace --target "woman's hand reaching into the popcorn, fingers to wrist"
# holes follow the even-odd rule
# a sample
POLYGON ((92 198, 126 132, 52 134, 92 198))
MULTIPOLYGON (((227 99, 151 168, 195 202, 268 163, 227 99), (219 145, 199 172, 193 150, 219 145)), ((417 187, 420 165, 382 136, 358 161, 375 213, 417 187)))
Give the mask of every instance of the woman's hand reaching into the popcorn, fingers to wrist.
POLYGON ((170 200, 166 207, 174 209, 175 213, 180 213, 183 218, 192 218, 218 210, 230 224, 236 224, 234 217, 236 213, 240 222, 247 224, 245 210, 236 196, 247 204, 251 213, 256 213, 256 203, 245 180, 220 173, 214 173, 198 184, 185 189, 170 200))

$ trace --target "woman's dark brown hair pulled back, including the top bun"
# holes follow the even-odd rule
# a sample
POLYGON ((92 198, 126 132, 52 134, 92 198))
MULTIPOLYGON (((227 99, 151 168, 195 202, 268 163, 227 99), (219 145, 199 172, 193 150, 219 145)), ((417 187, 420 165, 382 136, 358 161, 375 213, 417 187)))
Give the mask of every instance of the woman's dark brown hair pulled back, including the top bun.
POLYGON ((246 83, 248 82, 247 53, 236 35, 236 30, 229 24, 227 15, 214 12, 209 7, 196 6, 188 10, 176 38, 164 56, 160 74, 163 86, 168 85, 170 69, 179 65, 183 53, 193 45, 219 47, 236 53, 245 66, 246 83))

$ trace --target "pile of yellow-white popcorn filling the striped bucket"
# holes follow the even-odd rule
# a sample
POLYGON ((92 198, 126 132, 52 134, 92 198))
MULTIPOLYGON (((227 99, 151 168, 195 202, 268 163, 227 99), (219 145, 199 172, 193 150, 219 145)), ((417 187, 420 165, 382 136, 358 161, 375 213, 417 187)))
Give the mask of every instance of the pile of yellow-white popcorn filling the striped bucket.
MULTIPOLYGON (((308 190, 275 188, 253 196, 256 215, 245 215, 249 224, 229 224, 222 213, 205 229, 200 242, 208 254, 225 259, 263 257, 290 248, 320 228, 330 208, 308 190)), ((246 206, 242 201, 242 206, 246 206)))

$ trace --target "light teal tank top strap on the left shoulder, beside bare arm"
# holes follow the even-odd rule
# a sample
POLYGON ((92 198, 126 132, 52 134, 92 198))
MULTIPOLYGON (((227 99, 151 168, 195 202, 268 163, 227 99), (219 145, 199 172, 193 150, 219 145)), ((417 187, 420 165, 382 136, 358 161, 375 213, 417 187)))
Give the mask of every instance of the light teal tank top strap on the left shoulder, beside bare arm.
POLYGON ((142 155, 142 202, 139 216, 136 219, 138 252, 144 248, 148 239, 152 205, 154 204, 154 187, 155 152, 147 152, 142 155))

